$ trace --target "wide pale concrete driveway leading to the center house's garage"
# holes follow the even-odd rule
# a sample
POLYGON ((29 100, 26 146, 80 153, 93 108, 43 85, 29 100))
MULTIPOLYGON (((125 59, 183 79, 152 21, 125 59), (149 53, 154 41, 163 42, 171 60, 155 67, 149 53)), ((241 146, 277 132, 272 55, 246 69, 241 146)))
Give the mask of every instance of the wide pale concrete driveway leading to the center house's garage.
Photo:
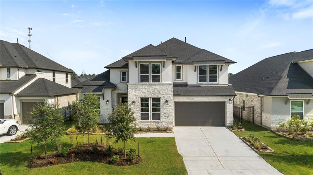
POLYGON ((188 174, 281 174, 226 127, 174 127, 188 174))

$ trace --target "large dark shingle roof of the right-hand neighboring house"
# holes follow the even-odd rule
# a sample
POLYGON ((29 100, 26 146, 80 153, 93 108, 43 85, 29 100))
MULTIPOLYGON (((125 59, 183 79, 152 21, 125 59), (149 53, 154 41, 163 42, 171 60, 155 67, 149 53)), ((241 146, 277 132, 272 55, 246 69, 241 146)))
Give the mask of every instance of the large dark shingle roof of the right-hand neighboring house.
POLYGON ((229 83, 235 91, 260 95, 312 94, 313 78, 292 63, 312 57, 313 49, 269 57, 229 77, 229 83))

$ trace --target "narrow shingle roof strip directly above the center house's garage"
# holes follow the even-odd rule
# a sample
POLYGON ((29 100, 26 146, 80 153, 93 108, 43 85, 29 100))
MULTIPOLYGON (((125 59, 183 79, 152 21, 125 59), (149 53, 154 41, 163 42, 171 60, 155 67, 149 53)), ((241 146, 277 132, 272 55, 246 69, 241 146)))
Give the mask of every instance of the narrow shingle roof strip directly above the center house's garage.
POLYGON ((173 85, 173 96, 236 96, 232 85, 187 86, 173 85))

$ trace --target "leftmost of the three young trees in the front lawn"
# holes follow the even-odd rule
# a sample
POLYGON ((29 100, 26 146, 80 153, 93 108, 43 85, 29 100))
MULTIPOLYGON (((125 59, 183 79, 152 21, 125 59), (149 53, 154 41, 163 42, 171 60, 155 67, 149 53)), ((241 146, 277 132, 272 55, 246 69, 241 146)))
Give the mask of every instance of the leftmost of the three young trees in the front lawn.
POLYGON ((44 156, 47 158, 47 142, 57 143, 60 136, 65 133, 64 119, 61 111, 51 103, 38 103, 30 112, 29 122, 31 128, 28 131, 31 143, 44 142, 44 156))

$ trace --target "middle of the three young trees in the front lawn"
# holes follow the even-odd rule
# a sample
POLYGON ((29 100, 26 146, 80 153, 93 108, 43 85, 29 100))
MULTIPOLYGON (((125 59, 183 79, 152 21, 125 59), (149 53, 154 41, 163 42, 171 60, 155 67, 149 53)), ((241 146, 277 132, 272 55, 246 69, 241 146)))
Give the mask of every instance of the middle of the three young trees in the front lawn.
POLYGON ((76 129, 78 129, 80 133, 88 133, 88 146, 90 146, 89 133, 97 129, 99 122, 99 96, 91 93, 86 94, 83 99, 74 102, 72 110, 74 111, 74 119, 77 125, 76 129))

